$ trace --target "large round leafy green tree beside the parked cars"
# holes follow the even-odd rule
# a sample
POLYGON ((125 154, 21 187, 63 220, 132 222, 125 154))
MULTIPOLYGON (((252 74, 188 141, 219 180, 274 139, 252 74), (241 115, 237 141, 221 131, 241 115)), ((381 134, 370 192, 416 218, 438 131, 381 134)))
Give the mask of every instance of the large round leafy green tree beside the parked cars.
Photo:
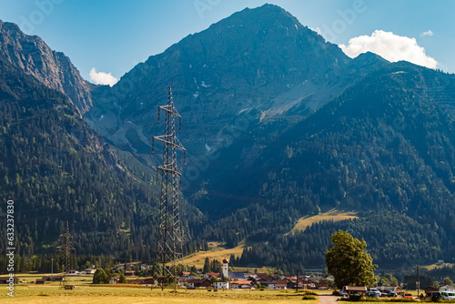
POLYGON ((329 273, 338 288, 343 286, 371 286, 374 281, 373 258, 367 252, 365 240, 353 238, 347 231, 332 234, 332 245, 326 252, 329 273))

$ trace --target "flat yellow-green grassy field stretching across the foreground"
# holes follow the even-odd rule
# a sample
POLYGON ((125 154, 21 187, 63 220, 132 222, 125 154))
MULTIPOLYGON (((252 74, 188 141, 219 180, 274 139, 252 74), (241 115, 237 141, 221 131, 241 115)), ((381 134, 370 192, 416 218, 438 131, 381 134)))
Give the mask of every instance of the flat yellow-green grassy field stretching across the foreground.
POLYGON ((317 304, 318 299, 302 300, 303 294, 296 294, 293 290, 225 290, 208 292, 207 290, 178 290, 173 293, 165 289, 153 289, 134 287, 127 285, 109 286, 76 286, 74 290, 61 290, 58 286, 35 284, 21 284, 15 287, 15 298, 6 296, 6 292, 0 294, 0 302, 6 303, 304 303, 317 304))

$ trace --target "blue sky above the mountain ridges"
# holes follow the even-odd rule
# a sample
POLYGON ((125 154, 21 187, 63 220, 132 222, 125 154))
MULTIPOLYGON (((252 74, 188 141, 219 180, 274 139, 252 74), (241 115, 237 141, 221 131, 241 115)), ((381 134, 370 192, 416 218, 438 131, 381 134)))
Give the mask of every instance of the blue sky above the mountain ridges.
POLYGON ((372 48, 399 59, 395 53, 406 48, 406 57, 417 63, 437 62, 437 67, 455 72, 455 1, 450 0, 0 0, 0 19, 41 36, 90 80, 92 68, 119 78, 183 37, 265 3, 280 5, 302 25, 345 45, 349 56, 372 48))

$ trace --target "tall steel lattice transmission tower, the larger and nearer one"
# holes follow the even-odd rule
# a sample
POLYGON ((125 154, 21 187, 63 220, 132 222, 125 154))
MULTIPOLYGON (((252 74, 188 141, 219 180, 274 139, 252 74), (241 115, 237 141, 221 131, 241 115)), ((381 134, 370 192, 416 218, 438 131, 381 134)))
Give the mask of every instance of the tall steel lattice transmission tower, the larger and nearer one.
POLYGON ((177 265, 183 265, 183 234, 178 204, 182 174, 177 166, 177 150, 184 152, 185 162, 187 150, 176 136, 176 117, 179 120, 179 128, 181 128, 182 117, 174 106, 170 86, 167 106, 158 106, 158 123, 161 110, 166 114, 166 132, 165 135, 152 139, 152 149, 155 147, 155 140, 164 145, 163 165, 157 167, 157 176, 158 172, 161 173, 161 197, 155 260, 159 263, 157 273, 161 289, 164 289, 167 279, 172 279, 177 290, 177 265))

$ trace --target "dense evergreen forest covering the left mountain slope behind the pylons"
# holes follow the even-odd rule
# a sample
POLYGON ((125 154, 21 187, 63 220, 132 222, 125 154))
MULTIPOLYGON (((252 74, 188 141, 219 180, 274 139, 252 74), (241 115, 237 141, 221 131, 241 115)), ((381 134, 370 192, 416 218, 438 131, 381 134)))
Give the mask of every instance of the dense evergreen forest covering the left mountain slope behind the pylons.
MULTIPOLYGON (((2 57, 0 114, 0 201, 15 201, 18 255, 55 254, 68 221, 77 255, 151 261, 159 190, 151 166, 106 144, 66 96, 2 57)), ((206 219, 181 204, 191 238, 206 219)), ((188 252, 198 248, 187 242, 188 252)))

